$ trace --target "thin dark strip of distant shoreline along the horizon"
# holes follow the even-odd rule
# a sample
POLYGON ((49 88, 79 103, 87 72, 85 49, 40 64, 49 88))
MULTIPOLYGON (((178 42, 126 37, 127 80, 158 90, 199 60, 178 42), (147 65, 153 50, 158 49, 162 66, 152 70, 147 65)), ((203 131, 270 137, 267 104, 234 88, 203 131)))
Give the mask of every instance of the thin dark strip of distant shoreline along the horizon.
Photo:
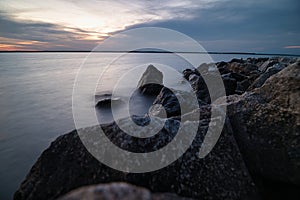
POLYGON ((134 51, 88 51, 88 50, 43 50, 43 51, 0 51, 0 53, 183 53, 183 54, 227 54, 227 55, 261 55, 261 56, 291 56, 300 57, 300 54, 286 54, 286 53, 254 53, 254 52, 196 52, 196 51, 155 51, 155 50, 134 50, 134 51))

